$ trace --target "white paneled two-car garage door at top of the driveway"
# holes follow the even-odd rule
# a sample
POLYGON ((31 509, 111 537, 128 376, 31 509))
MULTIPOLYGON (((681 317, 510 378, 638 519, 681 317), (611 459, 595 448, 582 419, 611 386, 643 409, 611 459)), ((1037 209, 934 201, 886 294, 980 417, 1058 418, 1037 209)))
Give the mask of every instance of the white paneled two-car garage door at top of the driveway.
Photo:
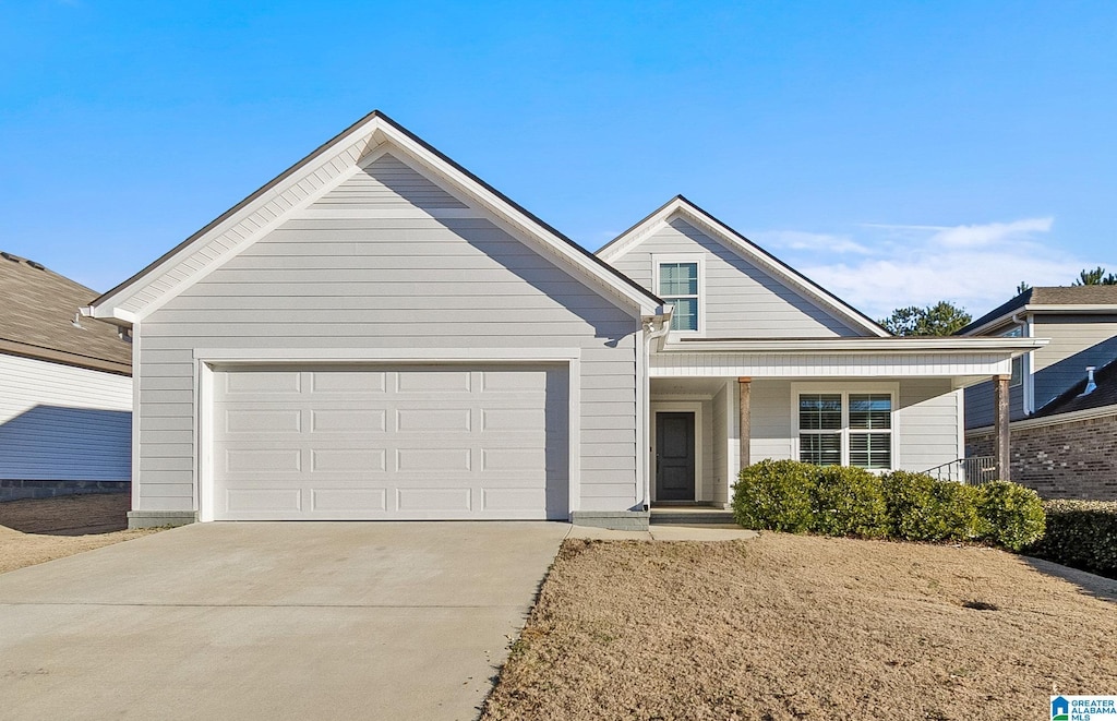
POLYGON ((213 517, 565 518, 566 375, 547 365, 214 368, 213 517))

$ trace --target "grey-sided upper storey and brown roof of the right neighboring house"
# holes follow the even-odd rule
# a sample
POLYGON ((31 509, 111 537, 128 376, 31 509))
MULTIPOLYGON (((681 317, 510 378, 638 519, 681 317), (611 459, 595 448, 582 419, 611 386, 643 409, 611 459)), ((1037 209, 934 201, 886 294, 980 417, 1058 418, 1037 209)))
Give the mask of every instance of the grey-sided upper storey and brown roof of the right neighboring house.
MULTIPOLYGON (((1030 288, 955 335, 1049 338, 1013 362, 1010 419, 1019 421, 1050 403, 1117 357, 1117 286, 1030 288)), ((993 424, 993 384, 966 390, 966 429, 993 424)))

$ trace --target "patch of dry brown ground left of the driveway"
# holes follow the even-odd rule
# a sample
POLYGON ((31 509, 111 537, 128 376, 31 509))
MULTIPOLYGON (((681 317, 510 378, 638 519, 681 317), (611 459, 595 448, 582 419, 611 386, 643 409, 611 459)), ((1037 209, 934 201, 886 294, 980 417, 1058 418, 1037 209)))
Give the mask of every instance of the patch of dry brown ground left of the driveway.
POLYGON ((127 493, 0 503, 0 574, 146 536, 127 530, 127 493))

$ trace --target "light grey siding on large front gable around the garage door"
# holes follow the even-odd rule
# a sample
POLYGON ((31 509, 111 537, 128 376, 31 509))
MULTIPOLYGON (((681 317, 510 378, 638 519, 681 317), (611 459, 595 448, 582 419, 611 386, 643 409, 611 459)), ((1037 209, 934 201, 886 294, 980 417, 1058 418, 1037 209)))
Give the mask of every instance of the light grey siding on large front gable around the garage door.
POLYGON ((400 165, 373 163, 333 195, 345 212, 287 220, 143 320, 139 509, 194 509, 195 348, 579 348, 581 509, 636 503, 638 311, 484 217, 391 217, 448 202, 400 165))

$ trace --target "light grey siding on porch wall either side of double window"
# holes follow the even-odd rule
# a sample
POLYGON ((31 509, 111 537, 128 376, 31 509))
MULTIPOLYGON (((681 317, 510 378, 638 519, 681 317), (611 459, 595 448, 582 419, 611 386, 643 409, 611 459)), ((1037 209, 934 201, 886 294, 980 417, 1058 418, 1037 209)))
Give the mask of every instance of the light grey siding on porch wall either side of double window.
MULTIPOLYGON (((794 451, 794 404, 791 381, 752 382, 752 440, 750 460, 791 459, 794 451)), ((828 381, 834 388, 840 382, 828 381)), ((863 387, 865 382, 858 382, 863 387)), ((897 408, 896 468, 926 471, 964 455, 960 445, 962 395, 951 390, 946 378, 905 378, 899 381, 897 408)))

